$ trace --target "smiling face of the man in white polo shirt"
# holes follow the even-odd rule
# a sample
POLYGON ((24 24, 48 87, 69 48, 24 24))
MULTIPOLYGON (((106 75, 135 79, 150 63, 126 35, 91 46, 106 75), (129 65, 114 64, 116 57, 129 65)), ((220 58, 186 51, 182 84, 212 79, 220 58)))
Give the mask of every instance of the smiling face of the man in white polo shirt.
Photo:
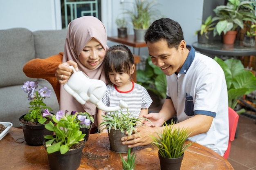
POLYGON ((154 43, 148 42, 147 46, 152 63, 161 68, 165 75, 179 72, 189 53, 184 40, 180 42, 178 49, 169 48, 167 41, 163 39, 154 43))

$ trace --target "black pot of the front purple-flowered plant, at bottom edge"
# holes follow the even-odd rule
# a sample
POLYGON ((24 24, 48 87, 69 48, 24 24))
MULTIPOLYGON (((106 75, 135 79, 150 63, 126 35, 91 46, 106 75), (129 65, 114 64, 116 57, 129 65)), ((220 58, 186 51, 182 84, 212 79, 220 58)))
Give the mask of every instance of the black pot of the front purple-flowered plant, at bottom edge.
POLYGON ((84 146, 85 143, 81 148, 69 150, 65 154, 61 154, 59 151, 47 154, 51 170, 76 170, 79 168, 84 146))

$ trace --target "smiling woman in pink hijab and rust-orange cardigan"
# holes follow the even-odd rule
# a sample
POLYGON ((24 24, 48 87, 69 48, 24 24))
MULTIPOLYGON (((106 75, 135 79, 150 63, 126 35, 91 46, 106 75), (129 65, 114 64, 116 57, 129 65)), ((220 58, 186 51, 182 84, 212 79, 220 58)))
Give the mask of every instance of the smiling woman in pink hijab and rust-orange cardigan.
POLYGON ((72 75, 72 68, 69 66, 74 66, 76 71, 83 71, 90 79, 101 79, 106 83, 102 61, 107 50, 107 35, 103 23, 93 16, 83 16, 69 23, 64 53, 46 59, 33 59, 25 64, 23 72, 28 77, 43 78, 52 84, 60 110, 90 113, 94 117, 91 131, 97 132, 96 106, 90 102, 81 105, 64 90, 63 84, 72 75))

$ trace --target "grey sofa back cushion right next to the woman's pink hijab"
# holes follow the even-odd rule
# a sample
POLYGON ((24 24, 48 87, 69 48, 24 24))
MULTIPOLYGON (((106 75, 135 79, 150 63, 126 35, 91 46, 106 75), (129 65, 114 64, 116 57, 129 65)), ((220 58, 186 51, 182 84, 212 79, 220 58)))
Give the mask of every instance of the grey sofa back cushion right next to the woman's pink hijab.
POLYGON ((67 29, 35 31, 36 58, 47 58, 64 51, 67 29), (52 48, 54 47, 54 48, 52 48))

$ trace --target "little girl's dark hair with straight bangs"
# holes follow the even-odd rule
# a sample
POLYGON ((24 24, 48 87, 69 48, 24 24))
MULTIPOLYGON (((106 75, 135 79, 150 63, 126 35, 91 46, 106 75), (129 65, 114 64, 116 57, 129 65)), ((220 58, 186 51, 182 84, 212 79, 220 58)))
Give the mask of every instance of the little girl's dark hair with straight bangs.
POLYGON ((108 73, 113 71, 130 74, 130 68, 134 64, 134 57, 127 46, 122 44, 115 45, 108 49, 103 64, 106 77, 108 77, 108 73))

